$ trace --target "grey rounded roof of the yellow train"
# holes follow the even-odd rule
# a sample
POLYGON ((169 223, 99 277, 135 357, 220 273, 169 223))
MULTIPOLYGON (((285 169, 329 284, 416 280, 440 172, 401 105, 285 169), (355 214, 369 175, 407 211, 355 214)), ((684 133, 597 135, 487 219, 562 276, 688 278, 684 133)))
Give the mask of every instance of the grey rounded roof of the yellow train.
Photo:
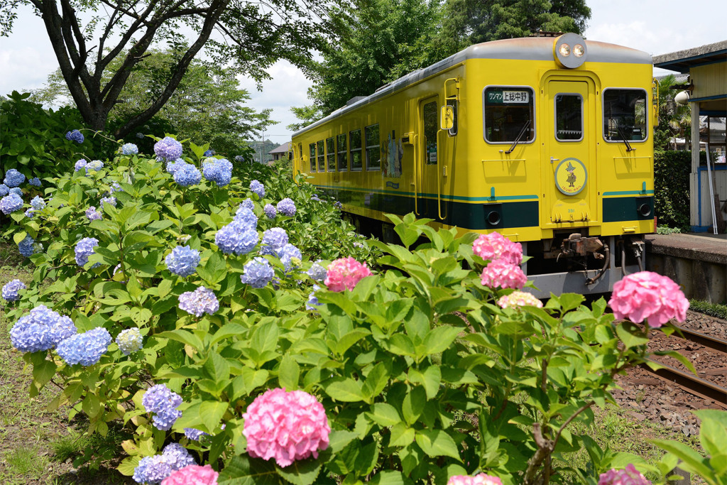
MULTIPOLYGON (((483 42, 482 44, 474 44, 467 49, 463 49, 457 54, 451 55, 428 66, 427 68, 418 69, 417 71, 401 76, 401 78, 391 81, 369 96, 357 96, 349 101, 342 108, 337 109, 323 119, 309 124, 307 127, 299 129, 293 133, 293 137, 300 135, 309 129, 315 128, 332 119, 342 116, 345 113, 356 110, 363 105, 373 103, 382 97, 399 91, 411 84, 415 84, 423 79, 433 76, 436 73, 445 71, 454 65, 470 59, 515 59, 515 60, 553 60, 553 37, 523 37, 519 39, 502 39, 499 41, 483 42)), ((586 40, 588 49, 589 63, 626 63, 626 64, 652 64, 651 55, 630 47, 623 47, 616 44, 608 44, 606 42, 586 40)))

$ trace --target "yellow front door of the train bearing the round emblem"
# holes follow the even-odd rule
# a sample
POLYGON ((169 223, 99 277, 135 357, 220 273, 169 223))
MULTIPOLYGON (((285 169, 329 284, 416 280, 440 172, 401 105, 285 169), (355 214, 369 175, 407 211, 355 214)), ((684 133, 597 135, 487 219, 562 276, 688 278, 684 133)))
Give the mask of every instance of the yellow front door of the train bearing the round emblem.
POLYGON ((544 227, 591 225, 598 216, 593 81, 547 81, 544 108, 544 227))

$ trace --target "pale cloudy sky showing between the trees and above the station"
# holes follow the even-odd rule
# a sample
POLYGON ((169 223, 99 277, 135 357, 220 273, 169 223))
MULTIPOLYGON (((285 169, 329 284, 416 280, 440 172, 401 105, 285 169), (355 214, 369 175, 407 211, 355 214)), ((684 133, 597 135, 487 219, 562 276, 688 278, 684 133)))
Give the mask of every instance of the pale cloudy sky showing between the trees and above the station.
MULTIPOLYGON (((651 55, 666 54, 727 40, 727 1, 691 0, 590 0, 591 18, 585 37, 606 41, 651 55)), ((0 94, 42 87, 58 63, 45 27, 29 8, 19 11, 9 37, 0 37, 0 94)), ((286 125, 297 119, 292 106, 310 104, 310 81, 290 63, 281 61, 268 71, 272 80, 258 91, 252 79, 240 79, 252 97, 247 105, 260 111, 271 108, 272 118, 280 121, 265 132, 275 143, 290 140, 286 125)), ((668 73, 656 69, 654 74, 668 73)))

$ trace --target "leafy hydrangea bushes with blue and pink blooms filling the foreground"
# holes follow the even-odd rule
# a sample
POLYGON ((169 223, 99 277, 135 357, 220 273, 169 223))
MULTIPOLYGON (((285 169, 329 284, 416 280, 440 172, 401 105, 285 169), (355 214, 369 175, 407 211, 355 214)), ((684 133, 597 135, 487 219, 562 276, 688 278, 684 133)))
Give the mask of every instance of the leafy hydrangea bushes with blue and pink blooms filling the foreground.
MULTIPOLYGON (((675 465, 614 457, 568 428, 614 402, 650 326, 614 321, 604 300, 516 294, 526 282, 510 241, 473 244, 408 215, 392 217, 403 246, 364 242, 302 175, 238 164, 220 185, 201 176, 205 147, 159 143, 156 156, 116 151, 55 180, 33 219, 10 215, 16 241, 44 248, 33 284, 6 292, 31 395, 53 380, 51 406, 87 414, 90 433, 126 427, 121 473, 596 484, 630 463, 659 476, 675 465), (169 160, 184 165, 172 174, 169 160), (196 183, 177 177, 184 167, 196 183), (112 188, 116 206, 102 207, 112 188), (583 447, 593 466, 576 470, 583 447)), ((647 299, 614 298, 628 318, 647 299)))

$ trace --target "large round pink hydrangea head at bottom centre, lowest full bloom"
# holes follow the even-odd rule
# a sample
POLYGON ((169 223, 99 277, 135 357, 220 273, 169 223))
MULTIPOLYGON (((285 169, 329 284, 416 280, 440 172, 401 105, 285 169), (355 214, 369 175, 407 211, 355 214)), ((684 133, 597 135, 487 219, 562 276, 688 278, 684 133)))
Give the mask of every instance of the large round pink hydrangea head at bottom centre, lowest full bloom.
POLYGON ((305 460, 328 448, 326 410, 316 398, 302 390, 287 393, 277 388, 257 396, 242 415, 242 434, 251 457, 275 458, 281 467, 305 460))

